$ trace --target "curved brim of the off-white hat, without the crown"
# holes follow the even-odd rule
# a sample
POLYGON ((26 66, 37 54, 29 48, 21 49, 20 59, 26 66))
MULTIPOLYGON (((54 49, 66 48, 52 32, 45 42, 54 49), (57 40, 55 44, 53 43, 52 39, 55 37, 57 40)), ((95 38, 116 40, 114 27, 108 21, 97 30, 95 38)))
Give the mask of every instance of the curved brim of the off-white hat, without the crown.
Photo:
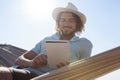
POLYGON ((67 12, 72 12, 72 13, 78 15, 79 18, 81 19, 82 23, 85 24, 85 22, 86 22, 86 17, 85 17, 85 15, 84 15, 83 13, 78 12, 77 10, 68 9, 68 8, 56 8, 56 9, 54 9, 54 10, 53 10, 53 13, 52 13, 53 19, 56 20, 56 19, 57 19, 57 16, 59 15, 59 13, 61 13, 61 12, 66 12, 66 11, 67 11, 67 12))

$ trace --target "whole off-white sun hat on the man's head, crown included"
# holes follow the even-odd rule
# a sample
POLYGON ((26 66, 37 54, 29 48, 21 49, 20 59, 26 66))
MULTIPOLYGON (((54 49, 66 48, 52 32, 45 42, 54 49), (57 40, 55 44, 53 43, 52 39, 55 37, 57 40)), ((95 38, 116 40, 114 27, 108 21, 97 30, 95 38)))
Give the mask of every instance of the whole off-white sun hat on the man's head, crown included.
POLYGON ((61 12, 66 12, 66 11, 67 11, 67 12, 72 12, 72 13, 78 15, 79 18, 81 19, 82 23, 85 24, 85 22, 86 22, 86 17, 85 17, 85 15, 84 15, 83 13, 79 12, 78 9, 76 8, 76 6, 73 5, 73 4, 70 3, 70 2, 68 3, 68 5, 67 5, 65 8, 63 8, 63 7, 55 8, 55 9, 53 10, 53 13, 52 13, 53 19, 56 20, 56 19, 57 19, 57 16, 59 15, 59 13, 61 13, 61 12))

